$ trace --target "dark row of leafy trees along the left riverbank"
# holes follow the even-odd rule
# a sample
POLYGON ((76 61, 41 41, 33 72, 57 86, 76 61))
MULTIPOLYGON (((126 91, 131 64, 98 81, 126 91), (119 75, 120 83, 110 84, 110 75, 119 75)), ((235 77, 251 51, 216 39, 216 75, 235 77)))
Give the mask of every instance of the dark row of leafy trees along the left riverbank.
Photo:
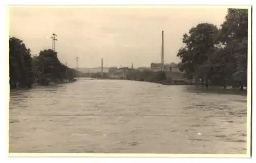
POLYGON ((31 88, 33 84, 48 85, 50 82, 72 80, 76 71, 62 64, 57 52, 52 49, 41 50, 32 56, 31 50, 23 40, 9 38, 9 84, 10 89, 17 86, 31 88))

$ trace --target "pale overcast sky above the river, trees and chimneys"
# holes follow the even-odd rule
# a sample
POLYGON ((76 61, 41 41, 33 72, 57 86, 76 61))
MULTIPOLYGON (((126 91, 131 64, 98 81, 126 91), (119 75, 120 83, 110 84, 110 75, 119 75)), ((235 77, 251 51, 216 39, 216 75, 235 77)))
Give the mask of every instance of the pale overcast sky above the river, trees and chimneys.
POLYGON ((164 31, 164 62, 179 62, 182 35, 201 22, 220 25, 227 8, 171 7, 11 7, 10 35, 22 39, 32 54, 51 48, 62 63, 76 67, 150 66, 161 62, 161 31, 164 31))

